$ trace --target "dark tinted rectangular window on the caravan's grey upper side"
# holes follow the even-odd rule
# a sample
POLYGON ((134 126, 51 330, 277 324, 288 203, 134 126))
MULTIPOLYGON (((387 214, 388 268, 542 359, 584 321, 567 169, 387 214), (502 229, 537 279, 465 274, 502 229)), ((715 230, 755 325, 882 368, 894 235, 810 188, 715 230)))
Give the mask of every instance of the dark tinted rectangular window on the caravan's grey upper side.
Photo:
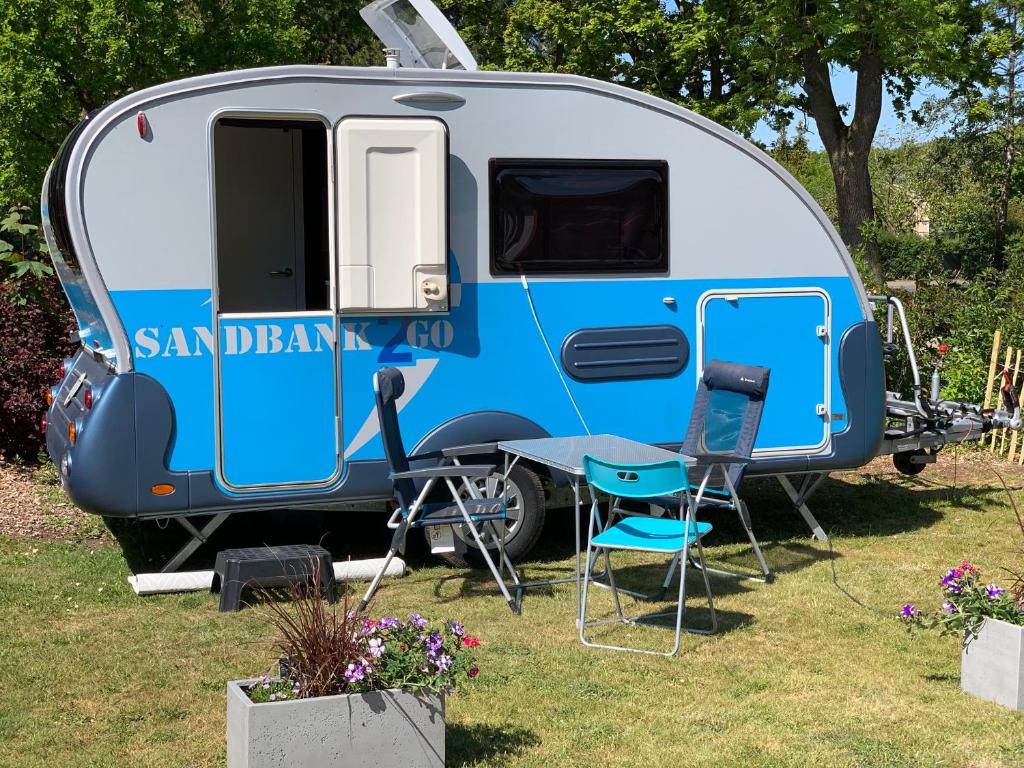
POLYGON ((490 161, 493 274, 665 272, 659 161, 490 161))

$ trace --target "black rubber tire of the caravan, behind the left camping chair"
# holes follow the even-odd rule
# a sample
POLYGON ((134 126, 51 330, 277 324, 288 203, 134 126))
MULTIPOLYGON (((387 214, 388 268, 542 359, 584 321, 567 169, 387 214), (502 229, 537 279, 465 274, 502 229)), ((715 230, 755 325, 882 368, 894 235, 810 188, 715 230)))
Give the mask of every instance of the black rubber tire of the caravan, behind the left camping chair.
MULTIPOLYGON (((500 473, 496 473, 500 476, 500 473)), ((495 475, 492 475, 493 485, 495 475)), ((508 535, 505 539, 505 553, 512 562, 518 562, 530 550, 537 546, 544 531, 544 517, 546 507, 544 503, 544 488, 541 487, 541 478, 523 466, 516 465, 509 472, 509 523, 508 535)), ((453 526, 456 527, 456 526, 453 526)), ((481 525, 477 525, 482 538, 486 539, 481 525)), ((425 530, 426 535, 427 531, 425 530)), ((465 542, 465 547, 460 547, 461 551, 445 552, 437 557, 458 567, 485 568, 487 564, 480 555, 476 542, 465 525, 456 528, 456 538, 465 542)), ((492 556, 496 556, 497 550, 490 549, 492 556)), ((497 562, 497 560, 496 560, 497 562)))

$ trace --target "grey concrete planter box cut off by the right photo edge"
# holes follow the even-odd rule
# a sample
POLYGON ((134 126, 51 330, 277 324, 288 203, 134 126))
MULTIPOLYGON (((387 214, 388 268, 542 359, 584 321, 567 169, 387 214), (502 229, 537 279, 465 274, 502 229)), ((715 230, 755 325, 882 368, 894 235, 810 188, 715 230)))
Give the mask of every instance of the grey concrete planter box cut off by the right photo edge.
POLYGON ((961 656, 961 688, 1024 710, 1024 627, 986 618, 961 656))

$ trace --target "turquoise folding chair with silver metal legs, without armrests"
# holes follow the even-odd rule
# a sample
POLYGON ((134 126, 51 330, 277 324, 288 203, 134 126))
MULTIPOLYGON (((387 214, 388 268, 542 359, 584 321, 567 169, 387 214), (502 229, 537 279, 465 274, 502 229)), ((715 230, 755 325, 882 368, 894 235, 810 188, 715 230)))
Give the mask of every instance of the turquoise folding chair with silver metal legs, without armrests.
MULTIPOLYGON (((672 459, 654 464, 613 464, 596 459, 593 456, 585 456, 583 459, 584 471, 587 475, 587 483, 592 489, 600 490, 608 495, 609 514, 615 509, 620 499, 647 499, 650 497, 663 497, 678 495, 680 502, 677 509, 680 510, 678 518, 652 517, 645 515, 632 515, 624 517, 617 522, 609 523, 604 529, 600 529, 600 510, 595 495, 594 502, 590 508, 590 525, 587 530, 587 564, 584 568, 583 597, 580 606, 580 641, 592 648, 608 648, 610 650, 629 650, 638 653, 650 653, 654 655, 672 656, 679 650, 680 638, 683 631, 683 614, 686 611, 686 564, 691 559, 700 564, 700 572, 703 575, 705 590, 708 593, 708 607, 711 609, 711 628, 700 630, 686 628, 687 632, 710 635, 718 629, 718 616, 715 613, 715 600, 711 593, 711 582, 708 579, 708 569, 703 565, 703 546, 700 540, 711 532, 711 523, 696 522, 693 518, 692 510, 699 505, 708 484, 708 477, 697 487, 696 497, 687 503, 689 493, 689 478, 686 474, 686 464, 682 459, 672 459), (690 550, 691 545, 696 545, 697 556, 693 558, 690 550), (630 550, 634 552, 653 552, 670 555, 673 559, 682 562, 682 571, 679 574, 679 602, 676 605, 676 637, 675 643, 670 651, 649 650, 645 648, 631 648, 621 645, 606 645, 603 643, 591 642, 587 639, 587 628, 597 624, 608 624, 608 621, 587 622, 587 595, 590 583, 593 580, 592 560, 600 552, 604 555, 605 573, 608 578, 608 587, 611 590, 611 598, 615 605, 617 621, 623 624, 638 624, 660 616, 672 615, 672 612, 654 613, 638 618, 627 618, 623 612, 623 606, 618 599, 620 590, 615 586, 614 572, 611 569, 612 550, 630 550)), ((615 620, 610 620, 615 621, 615 620)))

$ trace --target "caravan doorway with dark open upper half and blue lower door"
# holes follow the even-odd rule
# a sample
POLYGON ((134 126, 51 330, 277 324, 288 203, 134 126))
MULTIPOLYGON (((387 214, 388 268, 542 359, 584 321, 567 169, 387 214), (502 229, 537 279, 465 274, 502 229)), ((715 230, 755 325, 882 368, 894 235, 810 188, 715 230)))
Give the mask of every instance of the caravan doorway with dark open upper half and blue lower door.
POLYGON ((217 476, 232 489, 341 471, 328 136, 308 116, 213 127, 217 476))

